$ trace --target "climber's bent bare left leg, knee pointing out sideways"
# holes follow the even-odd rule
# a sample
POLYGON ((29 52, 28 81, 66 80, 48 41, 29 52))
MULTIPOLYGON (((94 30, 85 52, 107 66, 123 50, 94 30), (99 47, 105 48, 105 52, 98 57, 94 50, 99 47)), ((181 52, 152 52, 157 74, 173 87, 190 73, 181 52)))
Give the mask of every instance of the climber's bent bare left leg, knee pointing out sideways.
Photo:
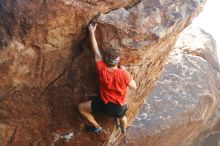
POLYGON ((100 128, 99 124, 96 122, 95 118, 92 115, 92 101, 83 102, 79 104, 79 112, 83 117, 85 117, 93 126, 100 128))

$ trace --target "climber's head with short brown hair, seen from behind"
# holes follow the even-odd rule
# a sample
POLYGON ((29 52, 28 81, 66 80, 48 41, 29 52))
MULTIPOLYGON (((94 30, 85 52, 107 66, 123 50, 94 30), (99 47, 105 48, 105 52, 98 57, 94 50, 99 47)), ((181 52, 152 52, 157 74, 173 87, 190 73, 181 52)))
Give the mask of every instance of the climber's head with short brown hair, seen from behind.
POLYGON ((103 51, 103 59, 108 67, 116 66, 120 61, 120 51, 118 49, 106 49, 103 51))

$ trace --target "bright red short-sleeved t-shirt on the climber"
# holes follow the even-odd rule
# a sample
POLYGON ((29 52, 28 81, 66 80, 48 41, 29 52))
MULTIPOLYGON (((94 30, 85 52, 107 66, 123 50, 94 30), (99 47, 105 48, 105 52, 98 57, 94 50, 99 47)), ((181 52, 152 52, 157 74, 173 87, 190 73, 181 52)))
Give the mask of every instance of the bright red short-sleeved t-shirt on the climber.
POLYGON ((124 69, 108 71, 104 61, 96 62, 99 72, 100 94, 104 103, 113 102, 121 106, 126 103, 127 86, 132 78, 124 69))

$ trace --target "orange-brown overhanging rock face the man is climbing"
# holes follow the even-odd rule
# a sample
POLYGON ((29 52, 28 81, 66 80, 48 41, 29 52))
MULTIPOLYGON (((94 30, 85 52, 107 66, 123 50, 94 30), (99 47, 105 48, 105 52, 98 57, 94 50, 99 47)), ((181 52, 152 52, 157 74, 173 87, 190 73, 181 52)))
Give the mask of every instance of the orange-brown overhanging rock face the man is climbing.
MULTIPOLYGON (((101 49, 119 48, 138 83, 129 123, 154 87, 176 37, 204 0, 0 0, 0 145, 107 145, 119 137, 97 115, 107 139, 82 130, 80 102, 98 94, 88 41, 98 23, 101 49), (101 14, 100 14, 101 13, 101 14), (100 14, 100 15, 99 15, 100 14), (63 134, 72 136, 69 142, 63 134)), ((68 138, 67 138, 68 139, 68 138)))

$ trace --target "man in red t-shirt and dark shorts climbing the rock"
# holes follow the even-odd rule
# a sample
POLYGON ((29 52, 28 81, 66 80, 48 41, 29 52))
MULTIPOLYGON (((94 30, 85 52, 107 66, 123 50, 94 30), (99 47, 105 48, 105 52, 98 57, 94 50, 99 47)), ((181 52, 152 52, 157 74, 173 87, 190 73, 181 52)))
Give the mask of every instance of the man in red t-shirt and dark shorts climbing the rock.
POLYGON ((100 80, 100 96, 79 104, 79 112, 93 126, 87 126, 87 130, 100 133, 102 128, 94 119, 92 113, 106 113, 113 116, 121 128, 121 132, 126 132, 127 111, 126 93, 127 87, 136 89, 136 83, 125 67, 119 66, 119 50, 106 49, 101 55, 95 38, 97 24, 89 25, 92 50, 95 56, 96 67, 100 80))

